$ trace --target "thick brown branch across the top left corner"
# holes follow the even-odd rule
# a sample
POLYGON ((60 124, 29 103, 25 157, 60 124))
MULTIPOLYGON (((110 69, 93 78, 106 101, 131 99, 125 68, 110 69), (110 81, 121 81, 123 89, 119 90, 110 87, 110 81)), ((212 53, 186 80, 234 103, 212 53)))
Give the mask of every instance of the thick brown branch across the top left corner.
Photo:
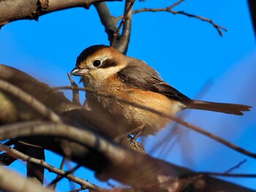
POLYGON ((14 20, 30 19, 38 20, 39 16, 56 12, 62 9, 69 9, 72 7, 85 7, 89 9, 91 4, 102 1, 121 1, 121 0, 13 0, 0 1, 0 28, 7 23, 14 20), (22 9, 20 9, 22 7, 22 9))

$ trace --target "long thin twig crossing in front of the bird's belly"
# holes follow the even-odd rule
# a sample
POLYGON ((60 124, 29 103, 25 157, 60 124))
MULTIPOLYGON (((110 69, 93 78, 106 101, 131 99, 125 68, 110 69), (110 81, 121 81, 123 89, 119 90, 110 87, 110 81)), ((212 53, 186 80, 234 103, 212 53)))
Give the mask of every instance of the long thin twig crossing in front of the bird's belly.
POLYGON ((167 118, 167 119, 173 120, 176 123, 181 124, 182 126, 185 126, 187 128, 191 128, 192 130, 194 130, 194 131, 196 131, 196 132, 198 132, 200 134, 203 134, 203 135, 205 135, 205 136, 207 136, 207 137, 209 137, 211 139, 214 139, 217 142, 222 143, 222 145, 230 147, 231 149, 236 150, 239 153, 242 153, 244 155, 248 155, 248 156, 250 156, 252 158, 256 158, 256 153, 252 153, 252 152, 250 152, 248 150, 245 150, 244 148, 238 147, 237 145, 234 145, 231 142, 227 142, 227 140, 222 139, 221 137, 218 137, 218 136, 216 136, 214 134, 211 134, 208 131, 203 130, 202 128, 194 126, 191 123, 188 123, 188 122, 186 122, 184 120, 181 120, 180 118, 176 118, 175 116, 169 115, 169 114, 167 114, 165 112, 159 112, 158 110, 155 110, 155 109, 153 109, 151 107, 146 107, 146 106, 144 106, 142 104, 137 104, 137 103, 134 103, 132 101, 127 101, 126 99, 123 99, 123 98, 121 98, 119 96, 114 96, 113 94, 110 94, 110 93, 104 93, 104 92, 101 92, 101 91, 95 91, 95 90, 93 90, 91 88, 76 88, 76 87, 69 87, 69 86, 56 87, 56 89, 73 89, 73 88, 78 89, 80 91, 89 91, 91 93, 97 94, 98 96, 104 96, 104 97, 107 97, 107 98, 110 98, 110 99, 114 99, 116 101, 121 101, 124 104, 129 104, 132 107, 138 107, 138 108, 140 108, 142 110, 147 110, 149 112, 153 112, 153 113, 155 113, 155 114, 157 114, 159 116, 162 116, 163 118, 167 118))

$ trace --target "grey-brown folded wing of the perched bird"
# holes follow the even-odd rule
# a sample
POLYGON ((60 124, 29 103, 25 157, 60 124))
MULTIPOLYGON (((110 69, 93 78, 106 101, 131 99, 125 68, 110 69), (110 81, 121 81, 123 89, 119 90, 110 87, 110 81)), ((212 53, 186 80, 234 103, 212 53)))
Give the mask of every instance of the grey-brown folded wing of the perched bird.
POLYGON ((121 69, 118 72, 118 79, 133 88, 161 93, 170 99, 181 102, 192 102, 192 99, 189 99, 189 97, 162 80, 159 74, 143 61, 135 61, 121 69))

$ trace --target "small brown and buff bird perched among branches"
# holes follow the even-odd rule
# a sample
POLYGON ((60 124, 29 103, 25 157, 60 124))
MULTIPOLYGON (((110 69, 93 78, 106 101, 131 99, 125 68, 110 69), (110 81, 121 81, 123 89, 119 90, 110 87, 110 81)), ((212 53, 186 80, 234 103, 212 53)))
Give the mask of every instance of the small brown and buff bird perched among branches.
MULTIPOLYGON (((83 50, 71 74, 81 76, 81 81, 86 88, 112 94, 169 115, 176 115, 177 112, 185 109, 243 115, 243 111, 249 111, 251 108, 242 104, 189 99, 162 80, 158 72, 144 61, 128 57, 113 47, 105 45, 94 45, 83 50)), ((154 112, 99 96, 97 93, 86 92, 84 107, 94 112, 97 118, 112 122, 113 130, 111 131, 116 135, 143 126, 140 135, 147 136, 156 134, 170 123, 170 119, 154 112)))

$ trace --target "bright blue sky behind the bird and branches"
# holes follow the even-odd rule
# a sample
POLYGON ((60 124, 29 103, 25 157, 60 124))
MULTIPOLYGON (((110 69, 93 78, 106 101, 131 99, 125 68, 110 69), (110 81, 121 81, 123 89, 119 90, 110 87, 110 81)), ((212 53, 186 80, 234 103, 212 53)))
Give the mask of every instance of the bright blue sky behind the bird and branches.
MULTIPOLYGON (((167 7, 174 2, 138 1, 135 9, 167 7)), ((123 4, 108 3, 116 16, 122 14, 123 4)), ((133 16, 127 55, 146 61, 165 81, 189 97, 194 98, 211 81, 202 99, 255 106, 255 37, 246 1, 187 0, 174 9, 210 18, 228 31, 219 37, 211 24, 201 20, 167 12, 144 12, 133 16)), ((38 22, 20 20, 1 28, 0 63, 21 69, 52 86, 69 85, 67 72, 74 68, 79 53, 97 44, 109 43, 94 7, 68 9, 44 15, 38 22)), ((78 78, 75 80, 78 82, 78 78)), ((69 92, 66 94, 70 97, 69 92)), ((254 117, 255 110, 242 117, 189 111, 186 120, 256 152, 254 117)), ((164 134, 162 131, 149 139, 157 142, 164 134)), ((146 146, 148 150, 152 147, 146 146)), ((247 158, 186 129, 172 150, 165 155, 153 155, 196 171, 216 172, 224 172, 247 158), (188 153, 186 146, 193 150, 188 153)), ((50 164, 60 163, 58 156, 48 155, 48 159, 50 164)), ((247 158, 236 172, 255 173, 255 167, 255 160, 247 158)), ((86 177, 84 173, 84 169, 78 172, 80 177, 96 182, 93 173, 86 172, 86 177)), ((232 181, 256 190, 255 179, 232 181)), ((59 190, 67 191, 67 186, 59 190)))

